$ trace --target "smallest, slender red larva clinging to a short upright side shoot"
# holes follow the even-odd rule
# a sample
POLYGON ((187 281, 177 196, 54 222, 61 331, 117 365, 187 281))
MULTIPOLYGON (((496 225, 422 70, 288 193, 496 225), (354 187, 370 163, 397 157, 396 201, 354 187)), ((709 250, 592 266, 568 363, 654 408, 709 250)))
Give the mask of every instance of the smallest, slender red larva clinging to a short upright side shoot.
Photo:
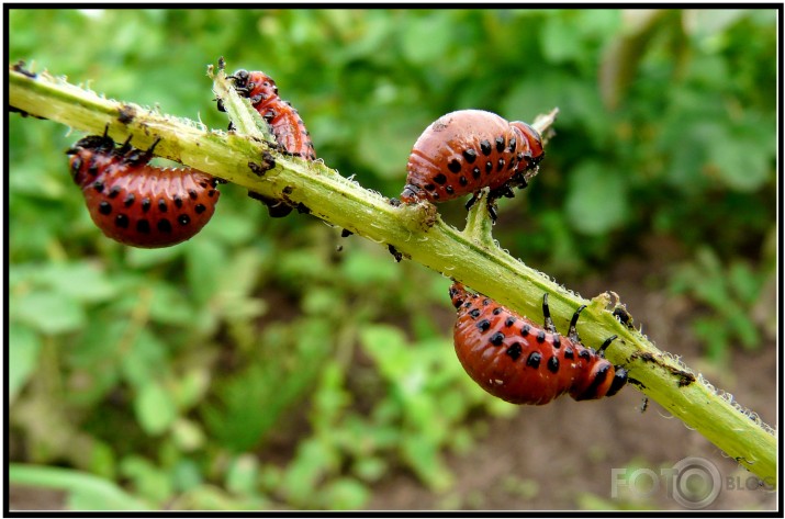
POLYGON ((270 125, 272 135, 284 153, 316 159, 309 131, 298 111, 278 97, 276 81, 265 72, 237 70, 234 76, 237 92, 250 100, 259 115, 270 125))

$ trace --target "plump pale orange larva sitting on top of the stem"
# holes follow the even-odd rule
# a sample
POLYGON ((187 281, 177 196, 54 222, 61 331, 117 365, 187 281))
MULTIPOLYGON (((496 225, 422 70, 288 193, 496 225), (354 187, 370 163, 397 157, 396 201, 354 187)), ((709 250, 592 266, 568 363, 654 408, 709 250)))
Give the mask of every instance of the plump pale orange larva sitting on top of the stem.
POLYGON ((485 187, 497 198, 512 187, 525 187, 524 173, 542 157, 540 135, 526 123, 482 110, 451 112, 414 144, 401 201, 442 202, 485 187))

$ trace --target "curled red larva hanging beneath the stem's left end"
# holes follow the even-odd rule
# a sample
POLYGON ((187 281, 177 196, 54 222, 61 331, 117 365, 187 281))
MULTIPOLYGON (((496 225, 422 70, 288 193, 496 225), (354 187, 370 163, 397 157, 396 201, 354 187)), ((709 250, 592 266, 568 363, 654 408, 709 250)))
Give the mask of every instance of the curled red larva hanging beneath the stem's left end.
POLYGON ((74 182, 96 225, 121 244, 168 247, 193 237, 210 221, 220 193, 213 177, 191 168, 149 166, 152 149, 90 136, 67 151, 74 182))

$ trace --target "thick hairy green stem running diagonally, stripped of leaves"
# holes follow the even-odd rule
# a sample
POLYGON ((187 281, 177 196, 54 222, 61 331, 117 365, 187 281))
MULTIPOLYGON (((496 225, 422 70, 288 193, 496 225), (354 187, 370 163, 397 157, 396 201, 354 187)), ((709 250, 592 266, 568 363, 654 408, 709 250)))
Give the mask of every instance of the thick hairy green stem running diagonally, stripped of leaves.
MULTIPOLYGON (((542 294, 548 292, 559 329, 567 329, 575 308, 587 304, 581 316, 584 343, 596 347, 606 337, 617 335, 607 357, 629 370, 642 393, 767 484, 776 484, 776 439, 771 428, 677 359, 657 349, 640 332, 619 323, 610 312, 609 293, 585 301, 496 247, 487 222, 483 222, 484 208, 474 210, 474 219, 470 219, 466 233, 460 233, 446 225, 431 204, 395 206, 322 161, 307 162, 278 154, 263 138, 209 132, 190 121, 99 98, 47 75, 31 78, 11 70, 9 95, 10 105, 18 110, 91 134, 102 133, 109 124, 113 138, 131 135, 133 144, 141 148, 160 137, 156 153, 164 157, 266 196, 302 204, 300 207, 306 207, 314 216, 381 245, 392 245, 406 258, 524 315, 539 316, 542 294), (276 166, 259 173, 259 168, 249 163, 265 162, 263 153, 274 158, 276 166)), ((253 134, 253 128, 247 133, 253 134)), ((402 178, 403 173, 402 168, 402 178)), ((484 200, 478 204, 484 206, 484 200)))

